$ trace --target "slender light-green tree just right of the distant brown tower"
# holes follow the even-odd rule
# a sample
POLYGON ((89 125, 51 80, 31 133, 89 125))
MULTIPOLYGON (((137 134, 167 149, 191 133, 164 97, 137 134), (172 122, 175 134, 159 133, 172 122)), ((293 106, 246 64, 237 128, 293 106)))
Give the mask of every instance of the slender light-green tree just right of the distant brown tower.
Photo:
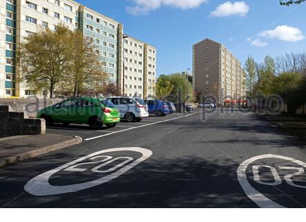
POLYGON ((244 71, 246 74, 246 88, 252 95, 256 81, 256 62, 251 56, 248 56, 245 62, 244 71))

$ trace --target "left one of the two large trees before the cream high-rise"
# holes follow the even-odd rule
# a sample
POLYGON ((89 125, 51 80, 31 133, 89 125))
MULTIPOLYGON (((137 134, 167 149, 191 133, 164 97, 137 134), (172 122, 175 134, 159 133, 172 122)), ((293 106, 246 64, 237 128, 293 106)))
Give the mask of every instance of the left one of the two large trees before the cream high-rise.
MULTIPOLYGON (((66 40, 69 29, 59 24, 56 31, 41 28, 37 33, 24 38, 17 49, 17 67, 20 68, 20 80, 39 92, 48 89, 50 98, 56 87, 68 78, 69 47, 66 40)), ((64 85, 62 85, 64 87, 64 85)))

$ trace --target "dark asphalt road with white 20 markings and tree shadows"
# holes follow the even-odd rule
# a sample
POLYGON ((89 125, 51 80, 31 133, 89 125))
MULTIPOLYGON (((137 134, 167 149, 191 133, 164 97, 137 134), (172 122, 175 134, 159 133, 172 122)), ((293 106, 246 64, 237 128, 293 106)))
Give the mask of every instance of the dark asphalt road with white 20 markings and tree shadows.
POLYGON ((305 143, 253 112, 48 133, 84 142, 0 169, 2 207, 306 206, 305 143))

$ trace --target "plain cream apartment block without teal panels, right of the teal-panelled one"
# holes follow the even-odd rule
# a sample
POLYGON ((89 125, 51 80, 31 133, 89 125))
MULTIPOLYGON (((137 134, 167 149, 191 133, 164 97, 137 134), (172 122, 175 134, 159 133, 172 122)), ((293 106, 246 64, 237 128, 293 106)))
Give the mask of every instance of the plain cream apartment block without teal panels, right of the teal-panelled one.
POLYGON ((154 96, 156 49, 134 37, 124 40, 123 92, 126 96, 154 96))

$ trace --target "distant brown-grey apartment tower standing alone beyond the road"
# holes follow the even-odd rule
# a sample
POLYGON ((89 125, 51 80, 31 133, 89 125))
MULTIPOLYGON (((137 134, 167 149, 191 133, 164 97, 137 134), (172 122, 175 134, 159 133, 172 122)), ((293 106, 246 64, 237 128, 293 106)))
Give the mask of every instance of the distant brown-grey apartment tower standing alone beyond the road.
POLYGON ((218 104, 246 96, 241 63, 223 44, 203 40, 193 46, 193 87, 218 104))

